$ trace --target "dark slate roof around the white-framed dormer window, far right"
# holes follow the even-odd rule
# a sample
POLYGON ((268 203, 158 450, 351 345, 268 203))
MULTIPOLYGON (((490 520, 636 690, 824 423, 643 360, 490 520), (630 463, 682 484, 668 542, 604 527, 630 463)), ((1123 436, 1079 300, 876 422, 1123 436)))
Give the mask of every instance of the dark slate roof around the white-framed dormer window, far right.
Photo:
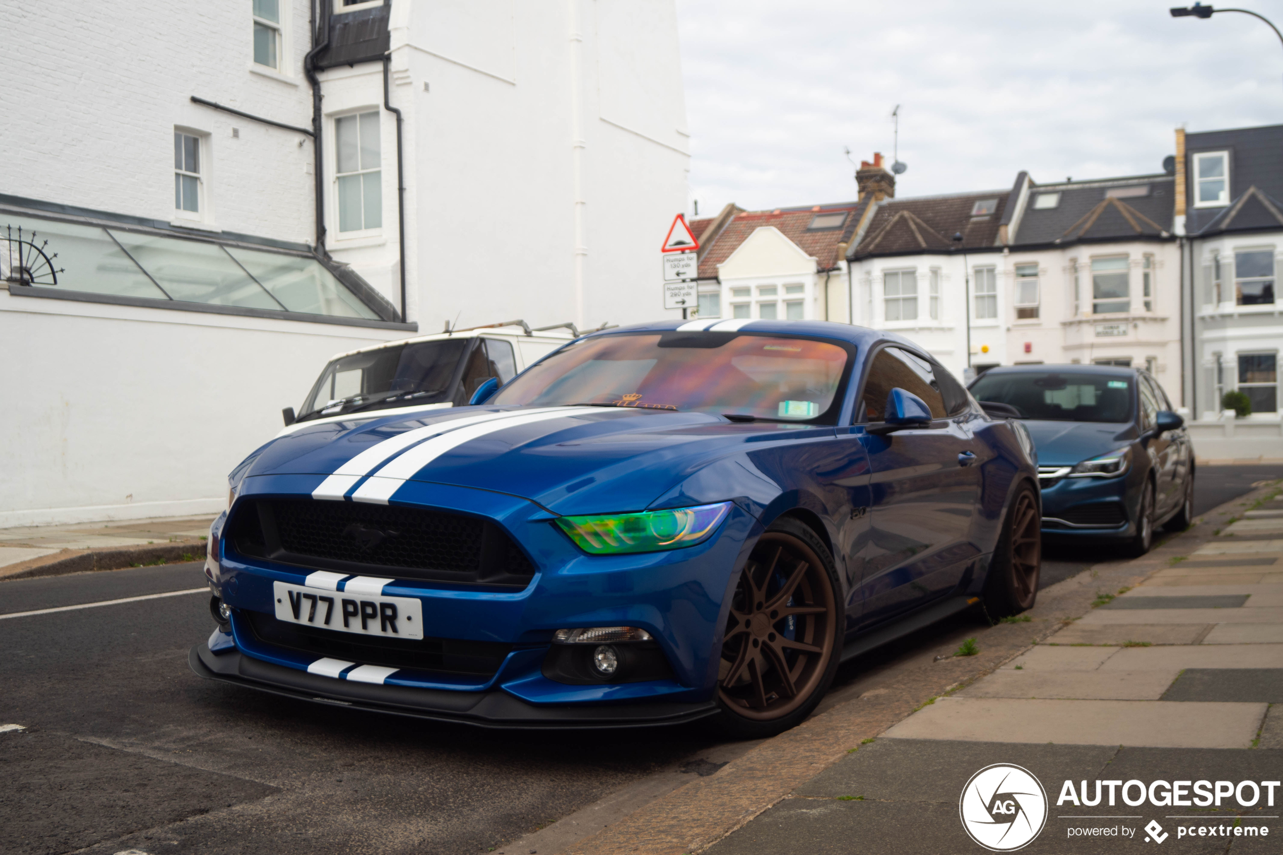
MULTIPOLYGON (((1210 231, 1247 231, 1260 228, 1252 226, 1252 217, 1236 217, 1229 224, 1221 218, 1227 208, 1194 208, 1193 156, 1202 151, 1229 151, 1229 199, 1227 208, 1234 208, 1242 201, 1248 188, 1255 187, 1270 199, 1283 199, 1283 124, 1270 124, 1260 128, 1234 128, 1230 131, 1206 131, 1185 135, 1185 154, 1189 155, 1185 168, 1185 231, 1201 235, 1210 231), (1220 219, 1220 224, 1212 226, 1220 219)), ((1255 208, 1255 203, 1250 205, 1255 208)), ((1264 222, 1264 220, 1262 220, 1264 222)), ((1274 227, 1277 228, 1277 227, 1274 227)))

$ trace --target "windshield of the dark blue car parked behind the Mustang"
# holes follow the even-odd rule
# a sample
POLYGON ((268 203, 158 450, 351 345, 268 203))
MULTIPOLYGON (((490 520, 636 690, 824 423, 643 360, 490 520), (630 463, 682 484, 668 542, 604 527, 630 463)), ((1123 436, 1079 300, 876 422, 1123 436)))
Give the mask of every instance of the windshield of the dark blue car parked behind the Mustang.
POLYGON ((1126 376, 1091 372, 989 372, 971 385, 971 395, 1014 406, 1024 419, 1130 422, 1133 383, 1126 376))

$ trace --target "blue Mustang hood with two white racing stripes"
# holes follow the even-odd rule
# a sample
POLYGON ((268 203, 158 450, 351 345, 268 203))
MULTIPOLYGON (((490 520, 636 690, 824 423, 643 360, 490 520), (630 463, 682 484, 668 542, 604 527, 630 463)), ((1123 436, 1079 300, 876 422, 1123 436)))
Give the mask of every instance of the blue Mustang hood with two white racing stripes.
POLYGON ((308 427, 268 442, 232 477, 319 476, 313 495, 373 501, 420 481, 522 496, 559 514, 627 511, 712 460, 816 432, 704 413, 464 406, 308 427))

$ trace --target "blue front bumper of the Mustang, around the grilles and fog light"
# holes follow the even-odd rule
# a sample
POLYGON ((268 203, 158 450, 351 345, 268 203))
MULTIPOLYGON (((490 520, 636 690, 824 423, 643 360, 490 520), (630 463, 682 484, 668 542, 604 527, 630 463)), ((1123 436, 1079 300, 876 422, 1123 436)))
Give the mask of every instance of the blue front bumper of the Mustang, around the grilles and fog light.
MULTIPOLYGON (((298 477, 262 478, 245 485, 239 501, 255 495, 296 496, 304 492, 299 487, 298 477)), ((747 556, 745 545, 758 527, 751 514, 733 509, 713 537, 697 546, 594 556, 581 552, 554 528, 549 514, 523 499, 444 485, 411 485, 411 488, 421 492, 412 494, 405 504, 494 520, 521 544, 536 567, 525 588, 394 579, 382 591, 386 596, 418 599, 425 627, 431 627, 429 635, 434 638, 507 646, 498 670, 448 673, 409 664, 378 685, 327 677, 316 668, 309 673, 322 654, 264 641, 249 620, 253 613, 273 614, 273 582, 304 585, 309 570, 237 554, 222 537, 219 524, 216 524, 219 531, 212 532, 218 538, 217 563, 207 574, 214 594, 232 608, 231 632, 217 643, 210 640, 212 652, 209 645, 203 647, 204 670, 196 665, 196 652, 201 650, 198 649, 192 669, 203 677, 255 688, 275 686, 304 700, 473 720, 491 727, 634 727, 645 722, 689 720, 716 711, 711 705, 725 597, 747 556), (553 633, 594 626, 648 631, 671 667, 671 679, 570 685, 544 676, 541 665, 553 633), (235 664, 222 665, 225 658, 235 664), (217 668, 210 664, 216 661, 217 668), (385 690, 395 693, 385 695, 385 690), (385 697, 399 700, 393 704, 385 697), (484 700, 488 697, 493 700, 484 700), (468 700, 461 708, 462 701, 445 699, 468 700)), ((377 574, 377 568, 368 572, 377 574)), ((354 654, 334 655, 358 659, 354 654)))

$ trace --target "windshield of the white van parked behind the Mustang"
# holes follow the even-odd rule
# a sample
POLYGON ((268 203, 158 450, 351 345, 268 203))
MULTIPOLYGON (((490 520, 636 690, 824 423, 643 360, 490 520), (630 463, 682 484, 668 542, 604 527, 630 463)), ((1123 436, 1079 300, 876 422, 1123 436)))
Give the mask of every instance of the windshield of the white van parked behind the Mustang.
POLYGON ((303 403, 299 420, 358 409, 446 400, 454 369, 471 338, 421 341, 336 359, 303 403))

